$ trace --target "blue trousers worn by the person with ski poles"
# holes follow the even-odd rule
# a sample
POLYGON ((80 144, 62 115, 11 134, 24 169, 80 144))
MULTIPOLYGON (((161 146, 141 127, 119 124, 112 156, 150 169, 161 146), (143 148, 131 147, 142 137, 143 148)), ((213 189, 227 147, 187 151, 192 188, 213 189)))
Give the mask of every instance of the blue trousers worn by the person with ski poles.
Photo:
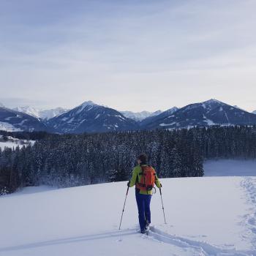
POLYGON ((151 195, 143 195, 136 189, 136 201, 139 212, 140 230, 145 230, 146 222, 151 223, 150 201, 151 195))

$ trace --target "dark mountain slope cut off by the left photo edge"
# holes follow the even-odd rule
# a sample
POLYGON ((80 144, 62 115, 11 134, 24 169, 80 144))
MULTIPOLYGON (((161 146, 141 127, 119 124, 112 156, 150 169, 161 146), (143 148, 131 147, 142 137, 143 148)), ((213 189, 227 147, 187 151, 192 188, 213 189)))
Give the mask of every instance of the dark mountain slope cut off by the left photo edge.
POLYGON ((15 131, 45 131, 46 125, 26 113, 0 107, 0 129, 10 132, 15 131))

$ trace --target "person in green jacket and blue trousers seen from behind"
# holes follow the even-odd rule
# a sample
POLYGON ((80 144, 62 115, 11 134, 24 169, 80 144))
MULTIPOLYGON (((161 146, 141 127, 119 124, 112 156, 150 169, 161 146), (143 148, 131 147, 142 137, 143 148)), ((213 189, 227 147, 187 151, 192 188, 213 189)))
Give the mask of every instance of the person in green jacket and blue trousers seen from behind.
POLYGON ((146 154, 140 154, 138 157, 138 165, 132 170, 132 178, 128 181, 127 186, 133 187, 135 186, 135 197, 138 206, 138 214, 139 214, 139 223, 140 223, 140 233, 146 233, 146 230, 149 228, 149 224, 151 223, 151 211, 150 211, 150 202, 152 197, 152 189, 154 184, 157 185, 158 188, 162 187, 159 179, 157 178, 157 173, 153 167, 148 165, 148 157, 146 154), (152 178, 151 186, 146 188, 145 181, 145 173, 148 176, 154 176, 152 178))

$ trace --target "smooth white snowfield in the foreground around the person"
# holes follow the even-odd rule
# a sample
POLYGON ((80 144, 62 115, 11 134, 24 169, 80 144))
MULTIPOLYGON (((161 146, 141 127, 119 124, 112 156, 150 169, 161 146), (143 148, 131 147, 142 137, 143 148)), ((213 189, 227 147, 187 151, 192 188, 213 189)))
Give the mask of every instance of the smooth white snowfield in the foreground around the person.
POLYGON ((162 179, 167 224, 157 191, 148 236, 138 233, 134 188, 118 230, 126 184, 0 197, 0 255, 256 255, 256 177, 162 179))

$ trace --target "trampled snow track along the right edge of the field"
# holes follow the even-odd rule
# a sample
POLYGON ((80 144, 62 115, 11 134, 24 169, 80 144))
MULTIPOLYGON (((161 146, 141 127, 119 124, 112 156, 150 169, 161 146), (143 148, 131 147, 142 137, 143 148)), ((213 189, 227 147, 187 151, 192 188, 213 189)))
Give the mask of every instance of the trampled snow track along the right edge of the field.
POLYGON ((256 178, 244 178, 244 181, 241 181, 241 187, 244 188, 247 202, 249 203, 249 206, 251 206, 248 209, 249 214, 244 216, 246 227, 248 227, 249 232, 244 234, 243 238, 250 238, 252 240, 252 246, 256 250, 256 178))

